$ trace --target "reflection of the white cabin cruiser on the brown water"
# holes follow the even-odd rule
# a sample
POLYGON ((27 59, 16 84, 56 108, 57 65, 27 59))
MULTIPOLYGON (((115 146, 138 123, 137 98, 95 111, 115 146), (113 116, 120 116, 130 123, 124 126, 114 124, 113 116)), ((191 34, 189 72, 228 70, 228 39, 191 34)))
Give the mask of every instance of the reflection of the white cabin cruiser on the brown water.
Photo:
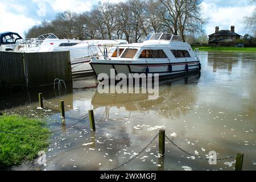
POLYGON ((127 111, 143 113, 155 110, 166 118, 179 117, 186 113, 187 109, 184 107, 195 102, 196 91, 193 84, 197 83, 198 78, 199 75, 194 75, 160 82, 159 97, 155 100, 149 100, 149 94, 100 94, 96 92, 92 98, 92 105, 95 109, 106 107, 105 113, 108 117, 111 107, 124 107, 127 111))

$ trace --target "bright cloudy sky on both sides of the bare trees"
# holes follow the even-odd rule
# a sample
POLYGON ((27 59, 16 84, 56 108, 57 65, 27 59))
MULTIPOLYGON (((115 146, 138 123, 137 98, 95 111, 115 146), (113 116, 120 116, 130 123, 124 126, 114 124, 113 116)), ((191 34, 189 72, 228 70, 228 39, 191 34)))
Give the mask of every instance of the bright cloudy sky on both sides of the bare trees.
MULTIPOLYGON (((14 31, 23 36, 24 31, 42 20, 52 20, 57 13, 71 10, 76 13, 88 11, 100 0, 0 0, 0 32, 14 31)), ((103 0, 106 1, 106 0, 103 0)), ((125 1, 112 0, 111 2, 125 1)), ((215 26, 220 30, 236 26, 236 32, 246 32, 242 20, 250 15, 254 7, 249 0, 203 0, 201 3, 204 18, 208 18, 205 26, 207 34, 212 34, 215 26)), ((47 32, 46 32, 47 33, 47 32)))

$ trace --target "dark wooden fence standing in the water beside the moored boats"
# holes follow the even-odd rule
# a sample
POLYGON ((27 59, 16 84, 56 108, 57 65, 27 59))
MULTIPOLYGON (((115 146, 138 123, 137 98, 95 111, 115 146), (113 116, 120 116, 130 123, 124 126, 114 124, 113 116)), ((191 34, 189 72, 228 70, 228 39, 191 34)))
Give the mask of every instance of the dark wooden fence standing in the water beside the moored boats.
POLYGON ((0 52, 0 85, 32 88, 53 84, 55 78, 72 82, 69 51, 0 52))

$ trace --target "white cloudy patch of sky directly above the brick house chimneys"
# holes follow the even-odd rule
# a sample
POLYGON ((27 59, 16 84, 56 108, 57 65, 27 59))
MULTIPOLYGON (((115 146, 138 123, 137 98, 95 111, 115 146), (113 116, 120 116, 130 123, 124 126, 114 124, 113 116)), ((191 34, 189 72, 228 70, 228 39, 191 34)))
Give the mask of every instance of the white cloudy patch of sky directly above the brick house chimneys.
POLYGON ((203 17, 208 18, 206 26, 207 35, 214 33, 215 27, 219 26, 220 30, 230 30, 230 26, 235 26, 235 31, 238 34, 245 35, 245 25, 242 23, 245 16, 253 13, 253 6, 226 6, 221 7, 216 3, 201 3, 203 9, 203 17))

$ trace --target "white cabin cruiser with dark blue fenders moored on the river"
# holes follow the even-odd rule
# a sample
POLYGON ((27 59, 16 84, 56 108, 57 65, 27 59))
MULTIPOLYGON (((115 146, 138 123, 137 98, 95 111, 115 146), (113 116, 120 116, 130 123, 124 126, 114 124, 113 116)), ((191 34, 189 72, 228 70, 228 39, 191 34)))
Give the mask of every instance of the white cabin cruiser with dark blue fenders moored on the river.
POLYGON ((179 36, 155 33, 148 35, 143 43, 115 46, 110 52, 90 61, 94 73, 159 73, 159 76, 186 75, 199 72, 200 60, 188 43, 179 36))

